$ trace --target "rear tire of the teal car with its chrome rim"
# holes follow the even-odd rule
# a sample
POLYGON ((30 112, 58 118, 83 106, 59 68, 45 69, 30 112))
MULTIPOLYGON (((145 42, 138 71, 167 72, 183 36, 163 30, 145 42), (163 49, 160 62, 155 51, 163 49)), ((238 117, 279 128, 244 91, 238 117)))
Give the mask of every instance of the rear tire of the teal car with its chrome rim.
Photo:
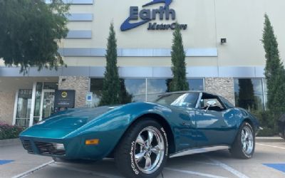
POLYGON ((250 159, 254 155, 254 149, 255 134, 252 125, 248 122, 243 122, 242 126, 239 127, 239 132, 229 152, 231 152, 234 157, 250 159))

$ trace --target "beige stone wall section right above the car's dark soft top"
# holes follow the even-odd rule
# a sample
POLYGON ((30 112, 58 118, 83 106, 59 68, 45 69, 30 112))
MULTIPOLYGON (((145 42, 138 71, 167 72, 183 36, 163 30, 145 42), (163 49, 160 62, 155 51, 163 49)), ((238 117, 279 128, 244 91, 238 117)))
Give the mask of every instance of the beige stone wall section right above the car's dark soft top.
POLYGON ((235 105, 234 78, 205 78, 205 90, 210 93, 222 95, 235 105))

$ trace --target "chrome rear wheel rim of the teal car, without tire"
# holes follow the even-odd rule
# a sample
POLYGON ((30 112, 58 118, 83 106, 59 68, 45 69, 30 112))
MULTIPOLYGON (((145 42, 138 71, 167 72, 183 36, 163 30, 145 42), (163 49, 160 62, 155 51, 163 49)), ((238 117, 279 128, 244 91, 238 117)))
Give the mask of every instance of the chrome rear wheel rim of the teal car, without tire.
POLYGON ((245 126, 242 129, 242 150, 247 155, 252 154, 252 150, 254 149, 254 136, 252 133, 252 129, 248 126, 245 126))

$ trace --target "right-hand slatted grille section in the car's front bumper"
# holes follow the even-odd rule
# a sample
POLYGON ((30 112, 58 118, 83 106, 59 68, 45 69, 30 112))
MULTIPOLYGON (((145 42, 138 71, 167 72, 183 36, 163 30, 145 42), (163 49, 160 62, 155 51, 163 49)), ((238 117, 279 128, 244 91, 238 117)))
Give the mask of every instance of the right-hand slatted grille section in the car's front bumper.
POLYGON ((58 150, 53 143, 48 142, 35 142, 38 151, 43 155, 66 155, 66 150, 58 150))

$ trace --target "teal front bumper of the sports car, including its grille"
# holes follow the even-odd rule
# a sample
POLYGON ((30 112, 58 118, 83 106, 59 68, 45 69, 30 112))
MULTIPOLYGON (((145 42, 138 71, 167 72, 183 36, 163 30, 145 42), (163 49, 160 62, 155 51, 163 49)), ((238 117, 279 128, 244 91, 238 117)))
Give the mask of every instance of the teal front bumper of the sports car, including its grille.
POLYGON ((106 145, 108 142, 100 140, 99 145, 86 145, 86 138, 80 136, 64 139, 20 136, 20 140, 24 149, 33 155, 65 159, 100 160, 110 152, 110 147, 106 145), (64 147, 56 147, 56 144, 63 145, 64 147))

